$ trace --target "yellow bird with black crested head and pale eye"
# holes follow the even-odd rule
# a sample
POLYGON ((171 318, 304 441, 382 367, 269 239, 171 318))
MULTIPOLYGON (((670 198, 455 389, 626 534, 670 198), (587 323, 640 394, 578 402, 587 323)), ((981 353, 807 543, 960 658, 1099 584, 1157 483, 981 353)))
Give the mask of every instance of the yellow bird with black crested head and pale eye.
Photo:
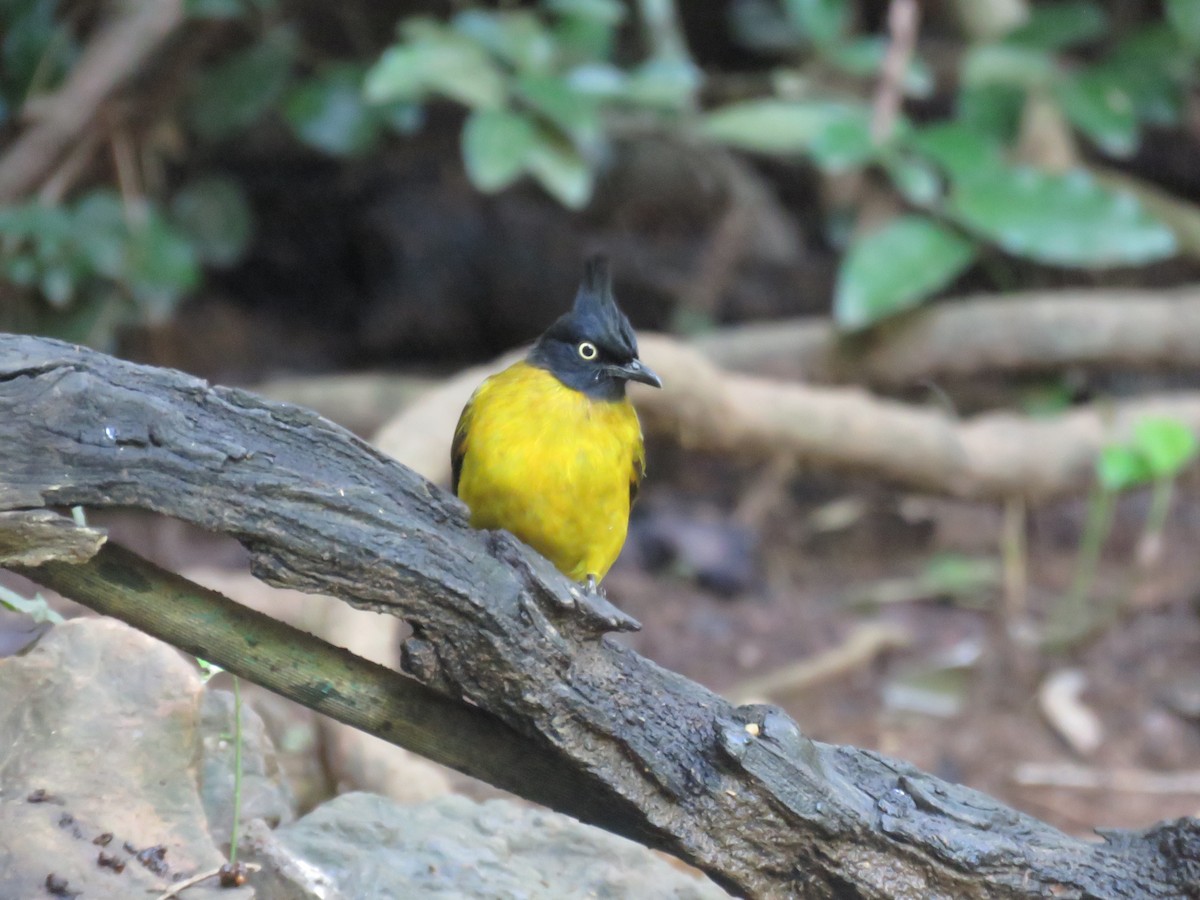
POLYGON ((646 472, 629 382, 662 386, 637 356, 608 260, 592 257, 571 310, 475 389, 450 450, 470 526, 511 532, 593 593, 625 544, 646 472))

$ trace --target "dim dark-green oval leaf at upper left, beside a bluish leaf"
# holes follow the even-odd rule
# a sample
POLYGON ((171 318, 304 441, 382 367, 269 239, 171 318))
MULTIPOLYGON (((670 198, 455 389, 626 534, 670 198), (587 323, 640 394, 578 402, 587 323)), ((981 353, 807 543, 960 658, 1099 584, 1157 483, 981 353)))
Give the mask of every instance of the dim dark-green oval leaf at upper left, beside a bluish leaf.
POLYGON ((295 32, 278 26, 204 72, 188 109, 196 132, 209 140, 220 140, 258 121, 287 88, 296 48, 295 32))

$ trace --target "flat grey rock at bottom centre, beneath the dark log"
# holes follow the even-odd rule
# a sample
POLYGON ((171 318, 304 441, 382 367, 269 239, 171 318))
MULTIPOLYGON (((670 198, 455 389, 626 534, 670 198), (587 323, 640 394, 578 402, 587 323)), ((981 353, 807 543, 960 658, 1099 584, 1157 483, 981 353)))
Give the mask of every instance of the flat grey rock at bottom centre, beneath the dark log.
POLYGON ((251 878, 260 900, 727 896, 637 844, 511 800, 400 806, 349 793, 276 832, 256 823, 247 836, 263 864, 251 878))

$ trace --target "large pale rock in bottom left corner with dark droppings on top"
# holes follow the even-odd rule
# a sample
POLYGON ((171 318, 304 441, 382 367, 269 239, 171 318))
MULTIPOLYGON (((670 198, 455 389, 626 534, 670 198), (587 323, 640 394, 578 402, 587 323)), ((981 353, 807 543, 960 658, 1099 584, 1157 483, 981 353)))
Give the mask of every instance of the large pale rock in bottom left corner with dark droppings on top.
MULTIPOLYGON (((112 619, 56 625, 0 660, 0 898, 48 896, 48 884, 86 900, 152 898, 221 865, 198 790, 205 694, 176 650, 112 619)), ((266 772, 263 756, 244 751, 252 772, 266 772)), ((211 884, 187 900, 254 895, 211 884)))

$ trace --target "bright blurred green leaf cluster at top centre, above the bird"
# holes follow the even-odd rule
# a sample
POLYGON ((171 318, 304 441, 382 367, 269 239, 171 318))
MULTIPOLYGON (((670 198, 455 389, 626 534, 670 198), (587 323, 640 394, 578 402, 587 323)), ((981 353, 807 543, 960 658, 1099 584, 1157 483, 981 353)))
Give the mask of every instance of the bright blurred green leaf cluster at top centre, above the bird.
POLYGON ((592 198, 605 154, 604 113, 617 107, 686 108, 686 65, 608 61, 625 7, 616 0, 550 0, 538 12, 464 10, 449 23, 414 18, 367 73, 373 103, 442 97, 470 112, 462 134, 467 175, 481 191, 533 176, 560 203, 592 198))

